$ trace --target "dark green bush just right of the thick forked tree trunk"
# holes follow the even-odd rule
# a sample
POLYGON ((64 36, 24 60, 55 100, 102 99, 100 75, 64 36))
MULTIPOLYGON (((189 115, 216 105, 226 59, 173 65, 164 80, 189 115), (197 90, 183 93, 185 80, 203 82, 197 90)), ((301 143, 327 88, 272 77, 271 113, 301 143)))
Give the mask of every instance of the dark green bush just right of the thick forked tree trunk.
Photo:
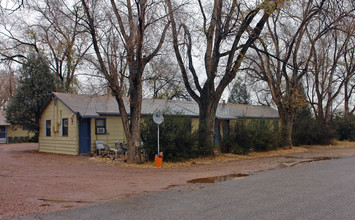
POLYGON ((229 137, 221 142, 225 153, 247 154, 252 151, 268 151, 280 147, 281 135, 278 122, 265 119, 239 120, 229 137))

